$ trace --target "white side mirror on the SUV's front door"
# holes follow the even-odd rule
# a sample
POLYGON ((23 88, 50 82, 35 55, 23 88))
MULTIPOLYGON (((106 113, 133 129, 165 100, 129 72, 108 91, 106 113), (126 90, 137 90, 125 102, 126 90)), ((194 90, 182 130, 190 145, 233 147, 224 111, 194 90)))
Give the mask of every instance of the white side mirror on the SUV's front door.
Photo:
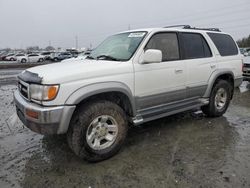
POLYGON ((143 55, 142 63, 160 63, 162 62, 162 52, 161 50, 148 49, 143 55))

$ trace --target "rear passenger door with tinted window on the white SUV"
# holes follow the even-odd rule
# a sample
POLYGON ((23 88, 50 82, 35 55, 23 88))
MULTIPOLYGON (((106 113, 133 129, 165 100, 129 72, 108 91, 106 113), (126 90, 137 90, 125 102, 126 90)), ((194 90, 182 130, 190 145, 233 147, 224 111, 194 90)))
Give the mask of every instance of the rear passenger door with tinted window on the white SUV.
POLYGON ((216 70, 216 58, 202 34, 182 32, 180 39, 187 67, 187 97, 202 97, 210 75, 216 70))

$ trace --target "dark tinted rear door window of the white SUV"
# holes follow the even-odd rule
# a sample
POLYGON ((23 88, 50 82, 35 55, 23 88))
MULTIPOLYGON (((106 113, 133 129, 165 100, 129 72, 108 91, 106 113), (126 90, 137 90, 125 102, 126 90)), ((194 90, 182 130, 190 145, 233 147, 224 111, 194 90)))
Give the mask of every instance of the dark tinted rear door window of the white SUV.
POLYGON ((182 33, 184 59, 211 57, 211 50, 198 33, 182 33))

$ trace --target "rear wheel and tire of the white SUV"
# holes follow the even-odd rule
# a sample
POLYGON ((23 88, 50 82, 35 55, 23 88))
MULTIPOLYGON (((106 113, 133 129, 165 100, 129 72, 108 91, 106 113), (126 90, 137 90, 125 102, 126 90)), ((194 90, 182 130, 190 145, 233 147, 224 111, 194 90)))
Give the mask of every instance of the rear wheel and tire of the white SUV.
POLYGON ((208 117, 222 116, 229 106, 232 91, 232 85, 229 82, 219 80, 212 89, 209 104, 201 107, 202 112, 208 117))

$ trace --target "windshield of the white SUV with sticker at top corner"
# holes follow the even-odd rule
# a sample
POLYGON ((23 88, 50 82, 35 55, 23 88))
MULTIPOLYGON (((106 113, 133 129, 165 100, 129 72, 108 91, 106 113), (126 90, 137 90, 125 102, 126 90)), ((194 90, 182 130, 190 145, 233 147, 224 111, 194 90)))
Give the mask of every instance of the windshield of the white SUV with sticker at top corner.
POLYGON ((88 58, 127 61, 133 56, 145 35, 146 32, 143 31, 121 33, 108 37, 90 53, 88 58))

